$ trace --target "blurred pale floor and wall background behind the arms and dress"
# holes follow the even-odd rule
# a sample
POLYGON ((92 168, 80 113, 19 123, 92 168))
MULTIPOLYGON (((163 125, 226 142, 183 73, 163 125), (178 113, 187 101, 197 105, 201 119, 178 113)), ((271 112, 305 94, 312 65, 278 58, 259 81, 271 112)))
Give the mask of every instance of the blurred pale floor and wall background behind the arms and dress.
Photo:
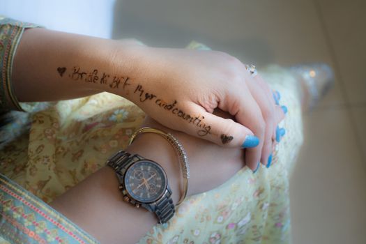
POLYGON ((366 243, 365 0, 0 0, 0 14, 49 29, 137 38, 157 47, 191 40, 257 68, 322 61, 335 86, 304 115, 291 176, 293 243, 366 243))

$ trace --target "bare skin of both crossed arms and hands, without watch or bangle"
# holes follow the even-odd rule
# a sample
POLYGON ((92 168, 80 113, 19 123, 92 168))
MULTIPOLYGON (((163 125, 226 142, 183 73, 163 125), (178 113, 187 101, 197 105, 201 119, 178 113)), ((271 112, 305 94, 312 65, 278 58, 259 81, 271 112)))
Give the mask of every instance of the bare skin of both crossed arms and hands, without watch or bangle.
MULTIPOLYGON (((145 125, 173 133, 185 147, 191 172, 188 196, 218 187, 245 164, 252 170, 259 160, 266 164, 274 146, 274 128, 283 119, 261 77, 251 77, 243 63, 222 52, 162 49, 29 29, 17 47, 12 80, 22 102, 79 98, 101 91, 135 102, 151 116, 145 125), (176 101, 185 114, 201 121, 181 119, 158 106, 158 99, 167 105, 176 101), (210 126, 209 133, 199 135, 202 126, 210 126), (259 146, 243 151, 246 135, 259 137, 259 146)), ((128 151, 162 165, 176 203, 181 171, 165 139, 146 134, 128 151)), ((103 167, 50 205, 102 243, 135 243, 157 220, 152 213, 123 202, 118 185, 114 171, 103 167)))

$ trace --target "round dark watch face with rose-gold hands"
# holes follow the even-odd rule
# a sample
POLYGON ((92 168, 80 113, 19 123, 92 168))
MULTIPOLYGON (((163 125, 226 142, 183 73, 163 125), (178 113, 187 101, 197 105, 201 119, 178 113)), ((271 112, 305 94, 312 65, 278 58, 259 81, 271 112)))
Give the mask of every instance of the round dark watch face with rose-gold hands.
POLYGON ((167 188, 165 171, 155 162, 141 160, 125 173, 125 189, 132 198, 143 203, 159 199, 167 188))

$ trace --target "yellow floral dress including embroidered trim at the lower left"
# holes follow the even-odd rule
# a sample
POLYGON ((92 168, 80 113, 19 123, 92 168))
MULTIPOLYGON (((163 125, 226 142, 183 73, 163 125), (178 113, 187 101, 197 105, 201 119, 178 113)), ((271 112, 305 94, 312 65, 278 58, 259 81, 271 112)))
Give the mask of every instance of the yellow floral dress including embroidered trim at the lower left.
MULTIPOLYGON (((289 174, 303 142, 300 96, 287 70, 273 66, 261 75, 289 109, 273 165, 256 174, 245 167, 220 187, 188 197, 139 243, 290 242, 289 174)), ((21 106, 27 112, 3 114, 11 122, 0 130, 0 243, 98 243, 47 203, 125 148, 144 112, 110 93, 21 106)))

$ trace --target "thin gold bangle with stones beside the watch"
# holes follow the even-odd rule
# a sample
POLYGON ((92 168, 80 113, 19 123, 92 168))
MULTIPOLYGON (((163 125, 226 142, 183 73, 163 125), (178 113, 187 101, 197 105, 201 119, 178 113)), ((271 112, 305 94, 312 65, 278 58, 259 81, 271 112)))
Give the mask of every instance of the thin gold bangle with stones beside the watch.
POLYGON ((181 162, 181 169, 183 172, 183 184, 184 184, 183 185, 184 186, 183 194, 181 195, 181 198, 179 199, 178 204, 176 204, 178 206, 179 204, 182 203, 182 201, 184 201, 185 197, 187 196, 188 178, 190 178, 190 165, 188 164, 187 154, 185 153, 183 146, 178 141, 178 139, 176 139, 176 137, 174 137, 174 135, 171 135, 171 133, 166 133, 162 130, 158 130, 158 129, 151 128, 151 127, 144 127, 144 128, 139 128, 139 130, 136 130, 131 135, 128 145, 132 144, 132 142, 135 140, 137 135, 139 135, 141 133, 155 133, 155 134, 161 135, 162 137, 167 139, 167 141, 173 146, 174 151, 176 151, 176 153, 178 154, 179 162, 181 162))

